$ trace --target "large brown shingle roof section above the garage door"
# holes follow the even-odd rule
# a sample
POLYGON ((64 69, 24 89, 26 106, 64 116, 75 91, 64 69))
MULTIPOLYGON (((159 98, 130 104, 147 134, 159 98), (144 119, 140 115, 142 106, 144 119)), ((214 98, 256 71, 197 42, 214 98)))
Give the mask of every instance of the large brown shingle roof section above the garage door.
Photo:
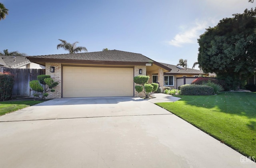
POLYGON ((29 56, 30 58, 46 58, 59 60, 86 60, 86 61, 111 61, 111 62, 152 62, 142 54, 124 52, 119 50, 108 50, 100 52, 84 52, 76 54, 54 54, 44 56, 29 56))

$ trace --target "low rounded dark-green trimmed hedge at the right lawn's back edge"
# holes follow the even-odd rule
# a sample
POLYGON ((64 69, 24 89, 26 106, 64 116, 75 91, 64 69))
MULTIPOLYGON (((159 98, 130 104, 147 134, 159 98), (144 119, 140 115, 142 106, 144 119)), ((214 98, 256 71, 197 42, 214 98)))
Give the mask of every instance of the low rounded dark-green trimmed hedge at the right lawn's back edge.
POLYGON ((214 94, 213 88, 206 85, 185 85, 180 88, 181 95, 212 95, 214 94))

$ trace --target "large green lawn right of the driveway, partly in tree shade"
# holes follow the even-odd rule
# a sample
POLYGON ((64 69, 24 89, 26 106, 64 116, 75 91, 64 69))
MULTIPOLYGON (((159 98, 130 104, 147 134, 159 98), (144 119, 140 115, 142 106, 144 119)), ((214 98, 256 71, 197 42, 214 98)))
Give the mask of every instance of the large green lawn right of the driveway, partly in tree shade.
POLYGON ((256 93, 179 96, 156 103, 245 156, 256 157, 256 93))

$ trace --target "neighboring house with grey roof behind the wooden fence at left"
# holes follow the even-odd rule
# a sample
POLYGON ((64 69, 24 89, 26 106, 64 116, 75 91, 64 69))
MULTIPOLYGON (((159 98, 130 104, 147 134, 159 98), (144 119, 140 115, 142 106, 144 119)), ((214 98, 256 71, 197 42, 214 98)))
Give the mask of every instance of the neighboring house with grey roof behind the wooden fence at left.
POLYGON ((6 68, 45 69, 45 66, 30 62, 26 56, 0 56, 0 66, 6 68))

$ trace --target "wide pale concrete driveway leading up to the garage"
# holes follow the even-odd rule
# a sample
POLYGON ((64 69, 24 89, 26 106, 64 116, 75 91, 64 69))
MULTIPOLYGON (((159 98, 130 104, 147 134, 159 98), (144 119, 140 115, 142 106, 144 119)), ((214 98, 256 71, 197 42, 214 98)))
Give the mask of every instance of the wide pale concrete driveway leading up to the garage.
POLYGON ((1 168, 255 167, 148 100, 61 98, 0 117, 1 168))

